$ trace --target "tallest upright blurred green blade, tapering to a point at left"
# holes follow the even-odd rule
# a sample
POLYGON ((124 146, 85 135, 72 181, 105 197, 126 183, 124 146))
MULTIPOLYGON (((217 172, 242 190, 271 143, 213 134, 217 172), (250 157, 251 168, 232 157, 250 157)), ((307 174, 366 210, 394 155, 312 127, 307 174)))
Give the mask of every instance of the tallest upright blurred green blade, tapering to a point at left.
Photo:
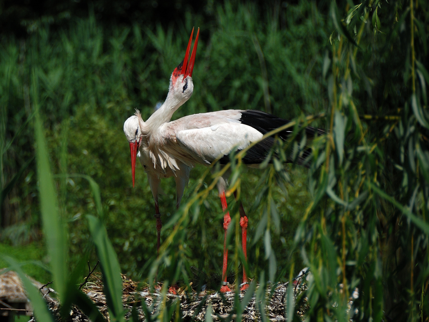
MULTIPOLYGON (((36 80, 33 75, 33 89, 36 91, 36 80)), ((57 192, 54 188, 54 179, 49 163, 48 147, 43 133, 42 121, 35 101, 34 132, 36 137, 36 161, 37 175, 39 179, 40 212, 42 214, 43 233, 45 235, 46 247, 50 258, 54 288, 60 298, 66 292, 67 279, 67 245, 66 231, 62 218, 58 211, 57 192)))

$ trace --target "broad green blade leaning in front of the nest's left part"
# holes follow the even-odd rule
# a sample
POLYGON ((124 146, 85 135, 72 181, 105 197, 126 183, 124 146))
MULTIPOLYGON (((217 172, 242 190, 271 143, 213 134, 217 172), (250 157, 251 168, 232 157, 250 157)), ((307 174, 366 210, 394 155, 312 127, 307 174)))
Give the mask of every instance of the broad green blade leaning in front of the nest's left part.
POLYGON ((97 217, 88 215, 89 230, 97 249, 103 273, 104 294, 115 321, 123 321, 122 278, 118 256, 107 236, 106 227, 97 217))

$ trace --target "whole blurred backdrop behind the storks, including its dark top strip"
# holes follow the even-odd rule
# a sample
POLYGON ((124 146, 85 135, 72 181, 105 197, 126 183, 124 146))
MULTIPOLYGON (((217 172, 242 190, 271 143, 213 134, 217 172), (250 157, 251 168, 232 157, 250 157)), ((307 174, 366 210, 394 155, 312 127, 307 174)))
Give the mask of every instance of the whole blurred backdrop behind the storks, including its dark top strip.
MULTIPOLYGON (((213 1, 45 1, 37 7, 3 3, 0 46, 1 251, 21 260, 46 263, 40 232, 30 83, 39 79, 39 97, 51 164, 63 216, 69 220, 72 262, 91 249, 86 214, 95 213, 88 182, 65 175, 86 174, 100 185, 109 237, 123 273, 147 275, 154 259, 154 201, 140 166, 132 187, 124 121, 134 109, 147 119, 163 102, 172 70, 181 62, 192 27, 201 35, 193 72, 194 93, 173 118, 220 109, 261 109, 295 118, 327 109, 323 60, 332 23, 328 4, 213 1), (29 164, 27 162, 30 161, 29 164), (12 182, 12 185, 9 183, 12 182)), ((325 120, 316 126, 325 128, 325 120)), ((275 199, 281 216, 273 238, 279 270, 309 200, 307 170, 288 167, 288 194, 275 199)), ((190 186, 204 168, 191 172, 190 186)), ((256 195, 258 170, 248 170, 242 191, 245 210, 256 195)), ((175 211, 175 184, 162 182, 163 221, 175 211)), ((184 200, 188 190, 185 191, 184 200)), ((224 231, 217 194, 205 203, 194 231, 188 231, 195 266, 220 273, 224 231)), ((258 264, 263 241, 253 244, 260 213, 248 213, 249 263, 258 264)), ((165 238, 169 230, 163 230, 165 238)), ((232 256, 233 254, 230 254, 232 256)), ((263 257, 263 255, 261 255, 263 257)), ((262 260, 262 258, 261 258, 262 260)), ((299 256, 295 261, 300 263, 299 256)), ((4 263, 0 263, 4 264, 4 263)), ((24 267, 48 282, 42 267, 24 267)), ((297 264, 296 270, 299 270, 297 264)))

